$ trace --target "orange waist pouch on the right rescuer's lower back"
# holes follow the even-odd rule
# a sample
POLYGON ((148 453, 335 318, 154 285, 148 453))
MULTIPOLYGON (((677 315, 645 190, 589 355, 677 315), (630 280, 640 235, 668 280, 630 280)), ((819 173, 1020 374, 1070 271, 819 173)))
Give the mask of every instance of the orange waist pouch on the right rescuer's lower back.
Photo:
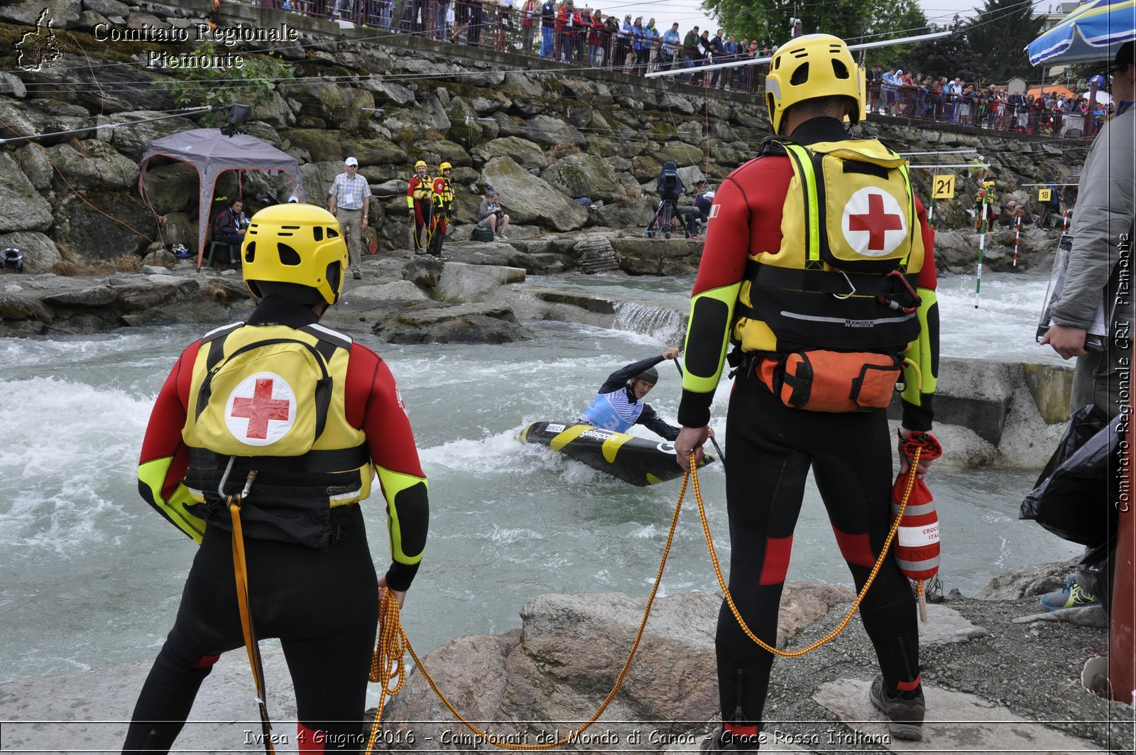
POLYGON ((869 412, 892 403, 902 367, 897 355, 818 349, 759 359, 754 374, 785 406, 809 412, 869 412))

